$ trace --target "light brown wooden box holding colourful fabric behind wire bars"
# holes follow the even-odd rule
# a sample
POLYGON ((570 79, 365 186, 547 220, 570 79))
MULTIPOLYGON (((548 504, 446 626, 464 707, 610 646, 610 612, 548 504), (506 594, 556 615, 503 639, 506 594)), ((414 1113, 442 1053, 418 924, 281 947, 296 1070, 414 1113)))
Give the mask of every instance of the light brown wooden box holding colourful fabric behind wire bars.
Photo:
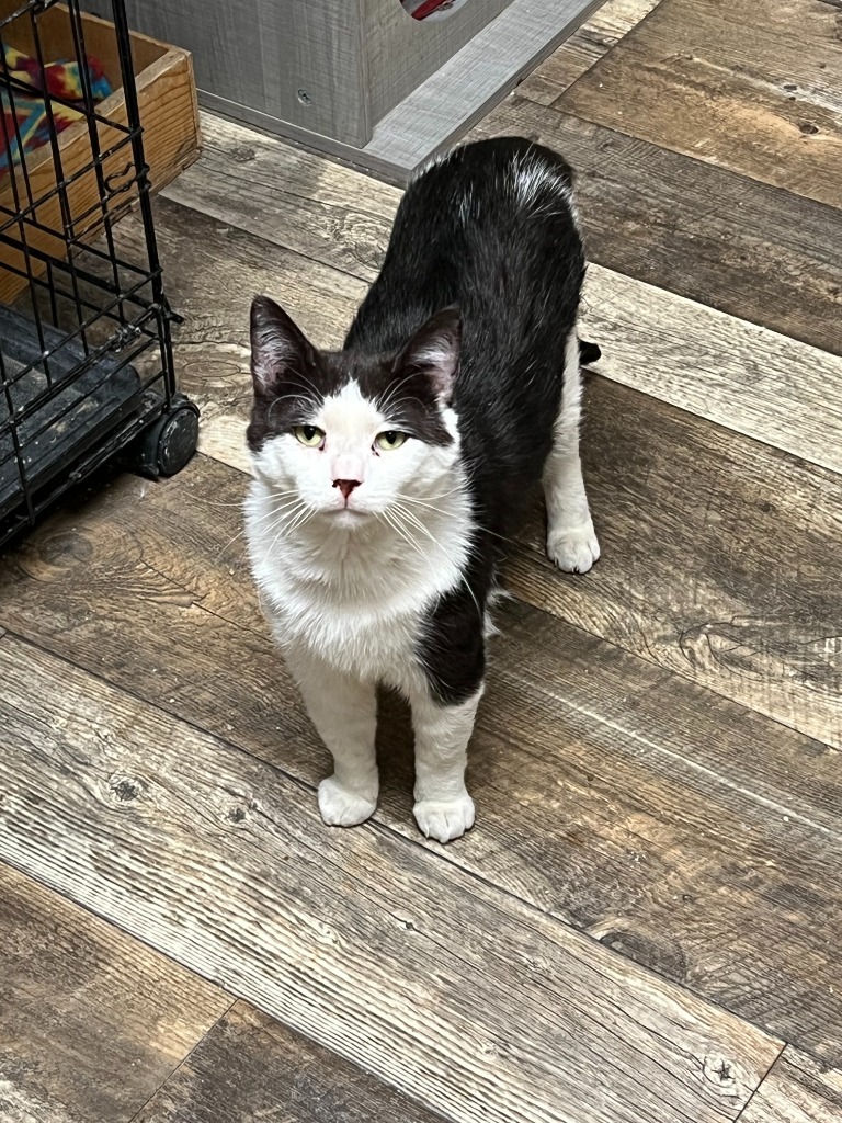
MULTIPOLYGON (((11 15, 19 7, 19 0, 0 0, 0 18, 11 15)), ((98 112, 113 126, 98 122, 101 153, 108 153, 125 133, 115 126, 126 124, 126 101, 121 89, 120 63, 113 27, 95 16, 83 16, 85 48, 97 57, 104 70, 113 93, 98 106, 98 112)), ((71 26, 66 9, 61 4, 49 8, 38 16, 38 31, 45 62, 75 56, 71 26)), ((3 42, 19 51, 34 49, 31 27, 28 19, 17 19, 3 28, 3 42)), ((187 51, 171 47, 145 35, 131 36, 132 62, 135 69, 140 121, 144 127, 144 149, 149 167, 149 179, 154 189, 163 188, 199 155, 199 111, 196 106, 193 64, 187 51)), ((99 204, 99 183, 93 168, 84 171, 92 163, 92 145, 86 121, 79 121, 58 135, 63 180, 66 182, 67 210, 74 235, 93 235, 102 225, 102 208, 99 204)), ((112 188, 125 183, 130 185, 135 175, 131 148, 119 146, 103 164, 103 175, 112 188)), ((27 154, 26 170, 31 199, 49 195, 56 185, 56 167, 49 145, 27 154)), ((28 201, 26 184, 18 164, 0 177, 0 227, 8 221, 8 211, 15 210, 12 176, 21 202, 28 201)), ((136 194, 119 191, 109 200, 108 212, 112 218, 128 210, 136 194)), ((33 212, 34 221, 26 225, 26 244, 54 258, 65 256, 65 231, 62 202, 53 195, 33 212), (37 225, 36 225, 37 222, 37 225)), ((9 238, 19 239, 20 229, 12 226, 7 231, 9 238)), ((45 266, 30 256, 30 272, 43 273, 45 266)), ((0 244, 0 301, 11 303, 26 286, 25 277, 11 270, 25 271, 25 257, 20 250, 0 244)))

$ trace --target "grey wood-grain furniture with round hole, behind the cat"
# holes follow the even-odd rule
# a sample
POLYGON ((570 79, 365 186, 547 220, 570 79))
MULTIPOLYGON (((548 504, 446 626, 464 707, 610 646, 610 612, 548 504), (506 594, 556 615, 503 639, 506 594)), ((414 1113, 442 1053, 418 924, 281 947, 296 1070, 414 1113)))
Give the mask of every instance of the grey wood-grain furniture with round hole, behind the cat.
MULTIPOLYGON (((101 10, 106 0, 85 0, 101 10)), ((204 106, 401 177, 512 89, 603 0, 126 0, 187 47, 204 106), (442 13, 443 15, 443 13, 442 13)))

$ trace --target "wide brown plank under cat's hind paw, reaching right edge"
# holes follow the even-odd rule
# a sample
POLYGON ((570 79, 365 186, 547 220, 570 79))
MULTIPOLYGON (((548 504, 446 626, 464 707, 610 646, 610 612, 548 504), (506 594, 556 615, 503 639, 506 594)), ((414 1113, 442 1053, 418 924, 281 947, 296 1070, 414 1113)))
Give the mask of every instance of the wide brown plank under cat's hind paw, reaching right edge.
POLYGON ((583 447, 598 569, 560 577, 537 515, 511 588, 842 747, 840 478, 601 380, 583 447))

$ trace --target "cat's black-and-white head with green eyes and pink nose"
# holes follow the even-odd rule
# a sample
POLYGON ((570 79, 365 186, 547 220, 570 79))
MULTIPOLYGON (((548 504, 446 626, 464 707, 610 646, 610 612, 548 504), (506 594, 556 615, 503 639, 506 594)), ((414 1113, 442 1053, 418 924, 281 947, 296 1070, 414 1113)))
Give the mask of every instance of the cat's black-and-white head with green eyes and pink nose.
POLYGON ((450 400, 459 366, 456 309, 392 355, 320 351, 274 301, 251 305, 255 472, 339 524, 388 517, 445 491, 458 463, 450 400))

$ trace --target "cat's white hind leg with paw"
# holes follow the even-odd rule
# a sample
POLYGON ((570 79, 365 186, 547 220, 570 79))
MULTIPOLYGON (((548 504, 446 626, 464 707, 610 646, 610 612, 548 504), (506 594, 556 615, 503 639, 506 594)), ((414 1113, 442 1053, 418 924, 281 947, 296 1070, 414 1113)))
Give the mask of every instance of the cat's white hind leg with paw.
POLYGON ((579 339, 574 329, 565 347, 561 408, 556 418, 552 450, 543 469, 547 554, 566 573, 587 573, 600 557, 600 544, 582 478, 580 418, 582 368, 579 339))

